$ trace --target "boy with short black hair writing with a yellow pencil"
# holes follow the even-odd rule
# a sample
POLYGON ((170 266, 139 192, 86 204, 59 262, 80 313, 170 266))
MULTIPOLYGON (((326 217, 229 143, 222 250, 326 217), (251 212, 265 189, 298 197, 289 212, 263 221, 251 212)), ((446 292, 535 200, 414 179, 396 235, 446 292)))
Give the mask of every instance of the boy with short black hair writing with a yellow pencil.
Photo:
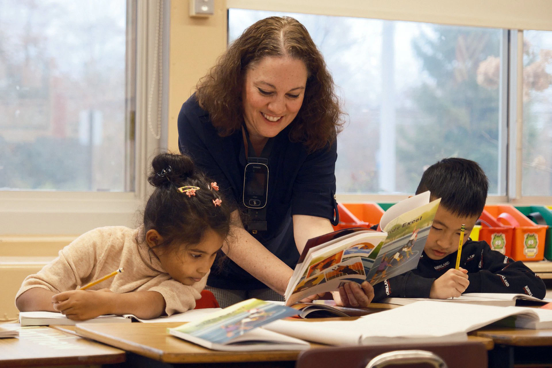
POLYGON ((485 206, 489 180, 479 165, 445 158, 422 175, 416 194, 431 191, 441 202, 418 268, 374 285, 374 301, 386 297, 458 297, 464 292, 503 292, 544 298, 544 282, 522 262, 469 239, 485 206), (465 225, 460 269, 456 270, 460 227, 465 225))

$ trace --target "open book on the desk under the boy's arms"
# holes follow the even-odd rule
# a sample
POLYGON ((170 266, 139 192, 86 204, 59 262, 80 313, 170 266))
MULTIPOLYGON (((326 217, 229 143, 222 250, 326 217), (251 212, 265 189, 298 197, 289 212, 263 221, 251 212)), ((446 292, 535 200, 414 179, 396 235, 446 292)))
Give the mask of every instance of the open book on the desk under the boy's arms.
POLYGON ((431 298, 385 298, 381 300, 381 303, 389 303, 396 305, 407 305, 413 302, 420 302, 424 300, 429 301, 442 301, 452 303, 470 303, 497 307, 511 307, 522 305, 544 305, 548 302, 552 302, 550 299, 539 299, 534 296, 526 294, 503 294, 493 292, 467 292, 459 297, 448 299, 431 299, 431 298))

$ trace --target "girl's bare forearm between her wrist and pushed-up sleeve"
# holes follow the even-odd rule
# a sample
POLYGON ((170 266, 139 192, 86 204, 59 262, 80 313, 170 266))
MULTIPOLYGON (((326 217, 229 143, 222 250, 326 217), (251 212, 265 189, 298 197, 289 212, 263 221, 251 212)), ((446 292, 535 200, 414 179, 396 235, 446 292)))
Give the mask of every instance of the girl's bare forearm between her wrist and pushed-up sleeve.
POLYGON ((161 316, 165 311, 165 299, 157 291, 132 291, 117 294, 105 292, 105 314, 134 314, 142 319, 161 316))

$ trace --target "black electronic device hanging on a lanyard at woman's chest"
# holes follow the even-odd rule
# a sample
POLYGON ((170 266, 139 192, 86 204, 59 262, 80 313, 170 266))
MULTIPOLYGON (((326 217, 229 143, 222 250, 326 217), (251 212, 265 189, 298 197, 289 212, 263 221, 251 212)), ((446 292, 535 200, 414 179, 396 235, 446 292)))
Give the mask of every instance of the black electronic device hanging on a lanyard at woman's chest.
POLYGON ((268 200, 268 156, 274 144, 274 138, 269 138, 264 145, 261 157, 254 157, 253 147, 247 129, 242 126, 243 143, 247 156, 247 164, 243 172, 243 205, 247 208, 247 230, 256 234, 267 230, 267 200, 268 200))

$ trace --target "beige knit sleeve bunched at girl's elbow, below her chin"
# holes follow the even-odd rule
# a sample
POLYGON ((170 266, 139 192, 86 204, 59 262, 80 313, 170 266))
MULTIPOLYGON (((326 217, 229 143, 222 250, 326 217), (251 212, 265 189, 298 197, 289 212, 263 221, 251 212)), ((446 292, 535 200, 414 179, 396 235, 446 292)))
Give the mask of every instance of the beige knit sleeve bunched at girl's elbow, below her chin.
POLYGON ((157 291, 163 296, 165 313, 167 316, 171 316, 174 313, 182 313, 195 308, 195 301, 201 298, 201 290, 205 289, 208 276, 209 273, 191 286, 169 279, 151 287, 148 291, 157 291))

